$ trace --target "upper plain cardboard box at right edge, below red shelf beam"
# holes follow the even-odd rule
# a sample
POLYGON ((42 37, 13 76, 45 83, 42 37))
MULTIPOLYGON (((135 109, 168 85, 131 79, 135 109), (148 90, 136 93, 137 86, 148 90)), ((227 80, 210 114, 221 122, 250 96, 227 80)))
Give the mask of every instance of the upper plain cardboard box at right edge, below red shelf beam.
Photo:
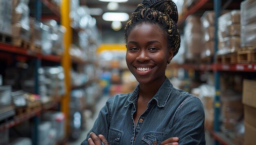
POLYGON ((243 80, 243 104, 256 108, 255 80, 243 80))

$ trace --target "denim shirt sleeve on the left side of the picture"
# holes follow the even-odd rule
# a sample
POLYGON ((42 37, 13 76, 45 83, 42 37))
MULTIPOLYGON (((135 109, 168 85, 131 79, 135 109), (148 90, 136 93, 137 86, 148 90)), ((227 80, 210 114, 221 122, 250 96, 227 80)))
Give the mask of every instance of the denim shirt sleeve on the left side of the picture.
POLYGON ((86 139, 81 143, 81 145, 89 145, 88 138, 90 138, 90 133, 94 132, 99 135, 102 134, 106 138, 108 138, 108 130, 110 126, 110 118, 111 118, 111 105, 112 105, 113 97, 108 99, 106 105, 100 110, 98 118, 95 120, 92 129, 88 132, 86 139))

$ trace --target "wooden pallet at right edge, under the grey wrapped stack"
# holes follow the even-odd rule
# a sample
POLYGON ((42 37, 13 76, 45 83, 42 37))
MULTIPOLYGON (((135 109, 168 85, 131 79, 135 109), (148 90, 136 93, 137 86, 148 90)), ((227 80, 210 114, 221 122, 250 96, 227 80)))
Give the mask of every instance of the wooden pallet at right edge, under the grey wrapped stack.
POLYGON ((247 49, 237 52, 238 63, 256 62, 256 49, 247 49))

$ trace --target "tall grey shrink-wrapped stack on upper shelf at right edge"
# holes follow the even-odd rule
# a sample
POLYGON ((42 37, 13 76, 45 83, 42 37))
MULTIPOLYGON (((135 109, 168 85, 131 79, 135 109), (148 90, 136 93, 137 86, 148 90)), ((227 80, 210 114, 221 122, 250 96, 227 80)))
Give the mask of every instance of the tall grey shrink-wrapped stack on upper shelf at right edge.
POLYGON ((241 46, 256 46, 256 1, 244 0, 241 9, 241 46), (254 11, 254 12, 253 12, 254 11))

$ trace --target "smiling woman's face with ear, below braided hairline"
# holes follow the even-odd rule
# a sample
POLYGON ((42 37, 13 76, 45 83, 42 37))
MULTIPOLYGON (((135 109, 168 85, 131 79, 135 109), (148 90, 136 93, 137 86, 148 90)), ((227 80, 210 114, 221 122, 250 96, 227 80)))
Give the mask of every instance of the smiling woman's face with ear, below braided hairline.
POLYGON ((127 38, 126 63, 139 83, 165 80, 173 50, 167 48, 166 32, 159 25, 142 23, 133 27, 127 38))

